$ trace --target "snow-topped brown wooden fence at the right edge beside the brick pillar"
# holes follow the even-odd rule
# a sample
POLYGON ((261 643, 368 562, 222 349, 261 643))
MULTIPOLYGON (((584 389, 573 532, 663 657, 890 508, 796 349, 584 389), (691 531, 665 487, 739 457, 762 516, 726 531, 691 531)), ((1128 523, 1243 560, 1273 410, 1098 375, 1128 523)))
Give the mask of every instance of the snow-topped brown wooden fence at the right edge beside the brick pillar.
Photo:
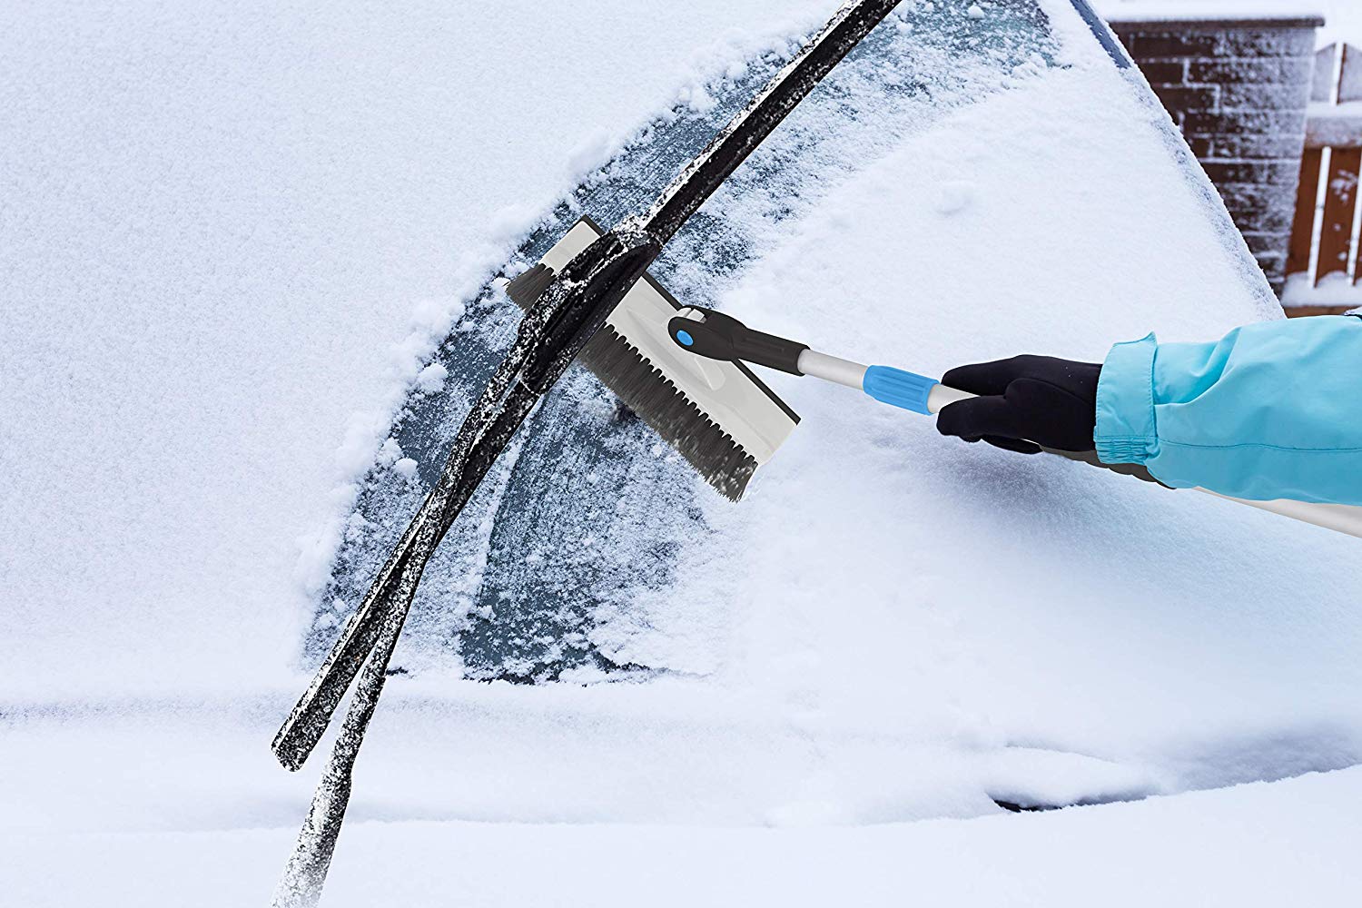
POLYGON ((1283 295, 1291 314, 1344 312, 1362 305, 1358 174, 1362 174, 1362 49, 1329 45, 1316 56, 1301 188, 1291 226, 1283 295))

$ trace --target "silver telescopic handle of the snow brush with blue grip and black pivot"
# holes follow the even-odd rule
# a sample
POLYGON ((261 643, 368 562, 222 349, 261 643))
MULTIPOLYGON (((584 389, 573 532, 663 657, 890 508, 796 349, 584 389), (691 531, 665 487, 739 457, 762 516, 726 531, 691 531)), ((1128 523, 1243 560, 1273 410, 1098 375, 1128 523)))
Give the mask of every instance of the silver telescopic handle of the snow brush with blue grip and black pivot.
MULTIPOLYGON (((805 343, 786 340, 775 335, 748 328, 733 316, 686 306, 667 323, 667 334, 673 343, 696 358, 707 361, 745 361, 770 369, 779 369, 794 376, 813 376, 849 388, 864 391, 880 403, 900 410, 911 410, 922 415, 936 415, 948 404, 967 400, 975 395, 949 388, 936 378, 893 366, 866 366, 850 359, 831 357, 812 350, 805 343)), ((1145 482, 1159 482, 1143 464, 1107 464, 1098 460, 1095 452, 1057 451, 1041 448, 1046 453, 1077 460, 1094 467, 1136 476, 1145 482)), ((1165 486, 1171 489, 1171 486, 1165 486)), ((1325 505, 1308 501, 1250 501, 1222 496, 1209 489, 1197 489, 1218 498, 1237 501, 1260 510, 1301 520, 1305 523, 1362 538, 1362 508, 1352 505, 1325 505)))

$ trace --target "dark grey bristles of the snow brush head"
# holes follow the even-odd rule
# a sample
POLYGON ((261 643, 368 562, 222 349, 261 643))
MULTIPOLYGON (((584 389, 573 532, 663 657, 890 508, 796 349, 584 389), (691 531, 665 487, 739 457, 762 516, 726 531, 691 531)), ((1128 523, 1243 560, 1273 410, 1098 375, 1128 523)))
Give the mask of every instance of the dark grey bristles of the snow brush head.
MULTIPOLYGON (((541 261, 512 278, 507 295, 528 309, 549 289, 553 276, 553 268, 541 261)), ((610 325, 591 338, 577 362, 676 448, 719 494, 731 501, 742 497, 757 461, 610 325)))

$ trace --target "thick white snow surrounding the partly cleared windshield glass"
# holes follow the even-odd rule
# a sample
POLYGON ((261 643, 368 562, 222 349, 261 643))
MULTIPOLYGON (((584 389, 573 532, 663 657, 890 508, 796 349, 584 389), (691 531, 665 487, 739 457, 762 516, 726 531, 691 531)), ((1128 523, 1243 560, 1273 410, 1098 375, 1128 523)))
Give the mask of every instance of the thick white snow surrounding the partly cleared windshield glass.
MULTIPOLYGON (((300 553, 375 455, 354 440, 531 215, 831 5, 45 4, 5 30, 3 901, 268 897, 319 771, 267 747, 305 683, 300 553)), ((1265 317, 1162 110, 1043 5, 1068 68, 849 166, 725 305, 923 372, 1265 317)), ((617 641, 677 671, 395 679, 327 904, 1362 889, 1351 540, 780 391, 804 425, 689 553, 723 585, 695 570, 617 641), (1220 788, 1313 771, 1339 772, 1220 788)))

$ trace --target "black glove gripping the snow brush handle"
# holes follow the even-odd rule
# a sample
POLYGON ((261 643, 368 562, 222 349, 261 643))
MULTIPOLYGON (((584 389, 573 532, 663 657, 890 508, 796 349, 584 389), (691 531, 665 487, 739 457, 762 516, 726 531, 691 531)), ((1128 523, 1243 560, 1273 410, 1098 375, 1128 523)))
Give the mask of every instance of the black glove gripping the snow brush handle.
POLYGON ((1095 362, 1030 355, 952 369, 941 384, 979 396, 943 407, 937 430, 1020 453, 1092 451, 1099 374, 1095 362))

